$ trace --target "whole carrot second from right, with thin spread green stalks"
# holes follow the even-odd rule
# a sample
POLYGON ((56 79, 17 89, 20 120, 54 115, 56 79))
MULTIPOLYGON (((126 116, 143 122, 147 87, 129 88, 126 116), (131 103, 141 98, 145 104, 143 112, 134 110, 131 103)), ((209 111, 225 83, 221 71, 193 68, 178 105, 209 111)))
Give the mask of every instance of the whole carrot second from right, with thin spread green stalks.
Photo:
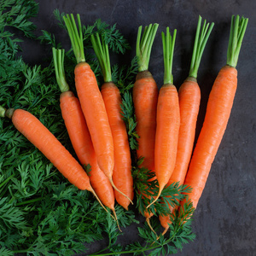
MULTIPOLYGON (((189 70, 189 77, 185 79, 178 90, 180 126, 177 142, 177 157, 175 168, 167 183, 167 186, 177 182, 182 185, 188 172, 189 161, 191 159, 195 141, 196 120, 201 101, 201 90, 197 83, 197 73, 201 62, 201 55, 205 49, 213 26, 214 23, 212 23, 209 27, 207 20, 204 20, 201 30, 201 16, 199 16, 195 33, 195 44, 189 70)), ((174 213, 178 208, 178 206, 169 207, 170 212, 172 213, 174 213)), ((169 224, 171 224, 172 221, 170 219, 170 215, 160 215, 159 218, 160 224, 165 228, 164 232, 162 233, 162 236, 164 236, 166 231, 169 229, 169 224)))

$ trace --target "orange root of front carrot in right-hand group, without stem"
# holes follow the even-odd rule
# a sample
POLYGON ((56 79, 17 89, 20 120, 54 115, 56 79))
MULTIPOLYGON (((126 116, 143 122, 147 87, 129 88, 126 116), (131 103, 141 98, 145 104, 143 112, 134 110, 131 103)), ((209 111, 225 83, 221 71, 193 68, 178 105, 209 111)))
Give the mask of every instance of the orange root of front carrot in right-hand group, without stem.
POLYGON ((156 122, 154 162, 161 191, 172 176, 177 156, 180 113, 177 89, 172 84, 160 89, 156 122))

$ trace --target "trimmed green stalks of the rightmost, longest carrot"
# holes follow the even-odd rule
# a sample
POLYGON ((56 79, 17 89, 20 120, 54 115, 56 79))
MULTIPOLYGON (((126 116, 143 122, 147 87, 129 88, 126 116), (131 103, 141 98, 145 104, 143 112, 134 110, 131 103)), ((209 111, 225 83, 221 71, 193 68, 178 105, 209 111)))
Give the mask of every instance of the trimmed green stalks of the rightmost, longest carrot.
POLYGON ((227 53, 227 65, 236 67, 241 49, 241 42, 247 29, 248 19, 239 15, 232 15, 230 26, 230 40, 227 53))

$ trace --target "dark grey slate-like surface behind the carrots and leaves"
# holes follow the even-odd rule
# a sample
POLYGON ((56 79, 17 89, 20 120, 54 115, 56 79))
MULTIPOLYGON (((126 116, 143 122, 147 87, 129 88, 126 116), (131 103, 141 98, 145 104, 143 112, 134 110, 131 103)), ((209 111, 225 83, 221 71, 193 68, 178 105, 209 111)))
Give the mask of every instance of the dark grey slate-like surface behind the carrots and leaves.
MULTIPOLYGON (((198 73, 201 86, 201 111, 197 135, 206 110, 207 96, 218 70, 224 66, 230 32, 231 15, 249 18, 247 32, 241 47, 238 70, 238 88, 230 121, 224 134, 218 154, 213 162, 201 200, 194 215, 193 230, 197 236, 177 255, 233 256, 256 255, 256 116, 255 99, 255 42, 256 42, 256 2, 253 0, 229 1, 128 1, 128 0, 40 0, 39 15, 34 19, 40 30, 55 33, 57 42, 69 47, 66 32, 60 30, 53 15, 54 9, 65 13, 79 13, 84 25, 101 18, 108 24, 117 23, 119 31, 128 38, 132 46, 125 58, 115 61, 127 62, 135 55, 137 27, 149 23, 160 24, 149 70, 157 83, 163 82, 163 59, 160 32, 177 28, 173 75, 177 88, 189 73, 189 63, 195 37, 198 15, 214 22, 215 26, 207 44, 198 73), (66 42, 66 43, 65 43, 66 42)), ((24 42, 24 58, 31 64, 50 54, 49 49, 30 40, 24 42)), ((143 221, 143 218, 138 217, 143 221)), ((133 225, 124 231, 122 242, 137 240, 137 229, 133 225)), ((91 247, 90 252, 101 249, 107 241, 91 247)), ((88 254, 88 253, 86 253, 88 254)), ((85 254, 84 254, 85 255, 85 254)))

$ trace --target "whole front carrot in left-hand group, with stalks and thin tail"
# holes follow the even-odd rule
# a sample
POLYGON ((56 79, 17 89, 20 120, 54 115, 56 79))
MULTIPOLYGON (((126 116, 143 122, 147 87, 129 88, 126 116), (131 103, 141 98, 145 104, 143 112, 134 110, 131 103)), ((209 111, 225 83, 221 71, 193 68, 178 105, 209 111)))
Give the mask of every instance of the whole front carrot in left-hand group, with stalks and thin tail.
MULTIPOLYGON (((114 185, 112 178, 114 164, 113 137, 108 122, 108 114, 95 74, 90 69, 90 65, 85 62, 80 16, 77 15, 79 29, 73 15, 66 15, 63 19, 67 26, 73 52, 78 62, 74 69, 75 86, 90 131, 90 137, 96 152, 96 159, 102 172, 108 177, 113 188, 119 191, 114 185)), ((121 191, 119 191, 119 193, 123 194, 121 191)))

